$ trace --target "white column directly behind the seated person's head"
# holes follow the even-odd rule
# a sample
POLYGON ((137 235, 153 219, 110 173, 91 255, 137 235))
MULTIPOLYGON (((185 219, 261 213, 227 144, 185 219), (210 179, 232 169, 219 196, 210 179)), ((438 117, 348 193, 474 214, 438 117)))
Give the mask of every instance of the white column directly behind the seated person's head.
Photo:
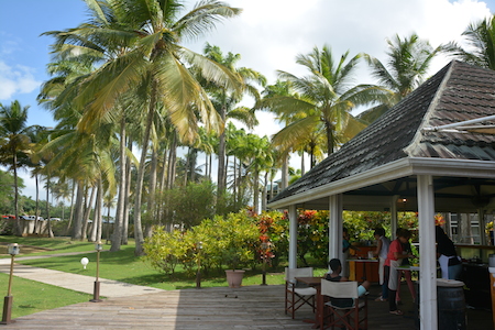
POLYGON ((328 257, 342 260, 342 195, 332 195, 329 199, 330 219, 328 222, 328 257))

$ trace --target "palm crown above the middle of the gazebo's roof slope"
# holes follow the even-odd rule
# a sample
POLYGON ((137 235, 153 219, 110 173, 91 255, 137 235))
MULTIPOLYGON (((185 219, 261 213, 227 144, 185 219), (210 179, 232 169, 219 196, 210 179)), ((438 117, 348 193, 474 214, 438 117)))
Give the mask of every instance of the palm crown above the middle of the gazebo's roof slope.
POLYGON ((356 106, 384 99, 386 91, 372 85, 352 86, 361 55, 349 61, 348 56, 349 51, 336 62, 330 47, 324 45, 322 50, 315 47, 308 55, 296 57, 296 63, 309 72, 308 76, 278 72, 278 78, 289 81, 297 94, 265 98, 256 107, 294 118, 292 124, 279 132, 290 131, 285 134, 287 144, 294 145, 309 132, 322 130, 326 134, 324 150, 333 153, 349 139, 344 135, 346 130, 358 127, 359 131, 365 127, 350 111, 356 106))

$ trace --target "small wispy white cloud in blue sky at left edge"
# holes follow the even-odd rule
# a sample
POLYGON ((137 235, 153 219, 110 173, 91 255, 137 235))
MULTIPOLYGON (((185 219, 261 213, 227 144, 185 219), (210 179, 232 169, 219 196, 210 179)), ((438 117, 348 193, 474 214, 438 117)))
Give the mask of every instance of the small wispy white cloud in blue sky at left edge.
POLYGON ((33 69, 22 65, 9 66, 0 61, 0 101, 10 100, 15 94, 29 94, 40 87, 33 69))

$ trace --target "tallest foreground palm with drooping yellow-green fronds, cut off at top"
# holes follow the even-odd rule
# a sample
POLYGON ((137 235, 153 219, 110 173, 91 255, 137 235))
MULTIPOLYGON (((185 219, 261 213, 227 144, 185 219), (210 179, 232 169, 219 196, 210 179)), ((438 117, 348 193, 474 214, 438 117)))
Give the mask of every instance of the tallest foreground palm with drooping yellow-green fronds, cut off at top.
MULTIPOLYGON (((92 18, 87 24, 67 31, 50 32, 57 38, 55 52, 61 57, 91 59, 97 51, 108 56, 101 66, 80 84, 75 98, 85 113, 78 130, 110 117, 122 95, 138 90, 144 98, 145 119, 141 142, 141 160, 134 200, 135 254, 143 254, 141 201, 145 161, 154 117, 165 112, 180 139, 197 136, 198 121, 208 129, 221 130, 221 119, 206 97, 187 65, 201 68, 201 74, 219 85, 235 88, 239 84, 229 69, 180 44, 215 28, 215 23, 240 13, 223 2, 206 0, 179 18, 182 1, 160 0, 86 0, 92 18)), ((98 56, 101 61, 102 57, 98 56)))

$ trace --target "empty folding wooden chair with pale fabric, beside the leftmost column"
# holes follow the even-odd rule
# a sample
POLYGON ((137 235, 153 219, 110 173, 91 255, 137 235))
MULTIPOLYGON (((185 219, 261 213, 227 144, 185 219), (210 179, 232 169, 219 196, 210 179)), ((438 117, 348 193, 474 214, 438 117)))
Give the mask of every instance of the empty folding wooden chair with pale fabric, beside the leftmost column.
POLYGON ((285 268, 285 314, 290 314, 293 319, 296 310, 305 304, 312 307, 315 312, 316 288, 298 283, 295 277, 312 277, 312 267, 285 268))

